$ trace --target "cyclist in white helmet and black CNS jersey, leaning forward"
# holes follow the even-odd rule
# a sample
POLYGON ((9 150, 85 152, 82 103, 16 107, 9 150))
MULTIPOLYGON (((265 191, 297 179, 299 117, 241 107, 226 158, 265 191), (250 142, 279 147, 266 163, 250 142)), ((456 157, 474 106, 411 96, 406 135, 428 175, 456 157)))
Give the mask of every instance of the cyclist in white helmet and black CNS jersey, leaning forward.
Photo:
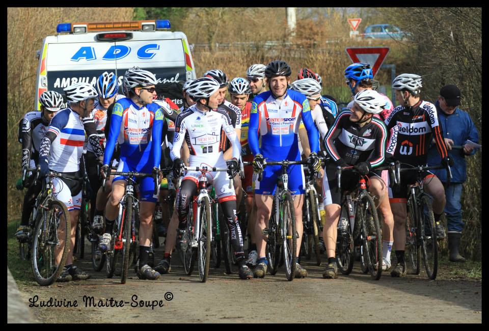
MULTIPOLYGON (((381 120, 373 116, 384 111, 383 98, 375 91, 365 90, 357 93, 354 101, 351 112, 338 115, 324 140, 331 159, 324 166, 322 183, 326 211, 323 237, 328 255, 328 266, 323 271, 323 278, 338 278, 335 251, 342 192, 337 188, 336 167, 354 166, 361 175, 368 175, 368 189, 379 197, 379 201, 387 195, 384 181, 372 172, 385 159, 387 129, 381 120)), ((355 188, 358 180, 357 173, 345 170, 341 174, 341 191, 355 188)))

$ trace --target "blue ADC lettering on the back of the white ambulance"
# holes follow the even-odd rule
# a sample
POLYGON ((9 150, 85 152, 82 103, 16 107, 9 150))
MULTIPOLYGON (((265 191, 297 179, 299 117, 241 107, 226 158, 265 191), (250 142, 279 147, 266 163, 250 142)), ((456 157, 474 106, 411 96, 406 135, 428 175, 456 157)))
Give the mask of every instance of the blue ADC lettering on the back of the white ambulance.
MULTIPOLYGON (((151 50, 159 50, 158 44, 146 44, 138 48, 137 56, 142 60, 150 60, 155 55, 156 52, 151 52, 151 50)), ((102 60, 105 61, 114 61, 125 58, 131 52, 131 47, 126 45, 114 45, 108 48, 108 50, 104 53, 102 60)), ((80 47, 71 57, 71 61, 78 62, 80 60, 96 60, 97 56, 95 53, 95 48, 90 46, 80 47)))

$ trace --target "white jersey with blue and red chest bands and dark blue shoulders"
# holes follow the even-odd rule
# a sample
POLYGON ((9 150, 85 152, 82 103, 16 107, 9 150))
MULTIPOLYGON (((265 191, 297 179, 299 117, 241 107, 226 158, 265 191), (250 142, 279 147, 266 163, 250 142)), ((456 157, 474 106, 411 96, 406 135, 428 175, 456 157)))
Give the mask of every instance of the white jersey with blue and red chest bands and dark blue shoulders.
POLYGON ((85 142, 85 129, 80 116, 69 107, 62 109, 52 118, 47 132, 56 136, 49 150, 49 169, 78 171, 85 142))

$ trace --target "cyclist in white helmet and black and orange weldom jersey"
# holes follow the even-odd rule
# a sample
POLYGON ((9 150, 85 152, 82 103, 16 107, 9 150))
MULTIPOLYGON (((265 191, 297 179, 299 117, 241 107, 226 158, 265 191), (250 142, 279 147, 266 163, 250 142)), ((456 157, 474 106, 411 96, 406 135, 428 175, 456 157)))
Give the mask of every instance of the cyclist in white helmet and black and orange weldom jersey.
MULTIPOLYGON (((397 129, 396 139, 389 144, 387 153, 393 154, 394 159, 403 165, 425 166, 427 151, 434 139, 438 153, 442 159, 443 166, 453 161, 448 157, 448 150, 441 133, 438 122, 437 108, 420 98, 422 88, 421 76, 403 73, 394 78, 392 88, 395 90, 399 106, 394 108, 385 120, 387 129, 397 129)), ((397 264, 391 271, 392 277, 403 277, 406 274, 406 263, 404 261, 404 246, 406 240, 406 202, 409 194, 409 185, 415 184, 417 173, 402 172, 401 182, 398 189, 389 189, 389 200, 394 214, 394 243, 396 248, 397 264)), ((440 216, 445 208, 445 189, 435 175, 430 172, 423 174, 423 188, 433 198, 432 207, 434 220, 436 222, 437 234, 440 238, 445 237, 445 229, 440 223, 440 216)))

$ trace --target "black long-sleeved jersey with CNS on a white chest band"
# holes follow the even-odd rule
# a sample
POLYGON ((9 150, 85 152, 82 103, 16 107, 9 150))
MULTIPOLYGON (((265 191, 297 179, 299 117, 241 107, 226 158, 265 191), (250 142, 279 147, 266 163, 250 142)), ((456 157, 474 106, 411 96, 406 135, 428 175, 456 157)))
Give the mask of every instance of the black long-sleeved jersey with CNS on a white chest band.
POLYGON ((369 162, 372 168, 380 166, 385 159, 387 129, 377 118, 360 127, 350 121, 350 112, 342 112, 330 128, 324 145, 337 164, 355 165, 369 162))

